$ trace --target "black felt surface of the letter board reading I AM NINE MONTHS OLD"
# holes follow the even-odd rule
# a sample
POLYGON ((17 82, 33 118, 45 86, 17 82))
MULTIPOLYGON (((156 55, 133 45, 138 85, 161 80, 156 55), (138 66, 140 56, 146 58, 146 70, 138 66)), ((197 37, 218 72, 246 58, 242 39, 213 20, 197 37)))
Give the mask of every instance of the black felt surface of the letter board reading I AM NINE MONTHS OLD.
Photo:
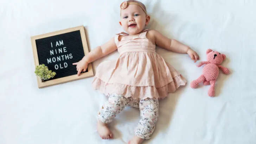
POLYGON ((45 64, 56 72, 56 76, 49 80, 77 74, 76 65, 72 64, 84 57, 79 30, 37 39, 36 46, 39 64, 45 64))

